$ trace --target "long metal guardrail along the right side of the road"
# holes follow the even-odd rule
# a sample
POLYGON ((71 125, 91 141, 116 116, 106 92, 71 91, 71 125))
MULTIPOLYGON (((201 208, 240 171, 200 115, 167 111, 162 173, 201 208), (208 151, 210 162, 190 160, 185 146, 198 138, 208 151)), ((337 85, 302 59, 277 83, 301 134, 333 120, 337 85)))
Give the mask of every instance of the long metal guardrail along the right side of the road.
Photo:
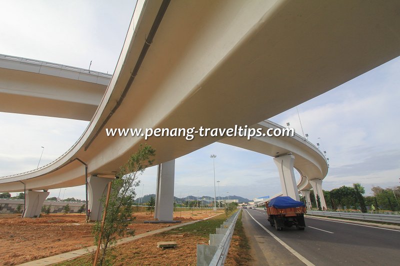
POLYGON ((321 211, 307 211, 307 214, 400 224, 400 215, 393 214, 338 213, 321 211))

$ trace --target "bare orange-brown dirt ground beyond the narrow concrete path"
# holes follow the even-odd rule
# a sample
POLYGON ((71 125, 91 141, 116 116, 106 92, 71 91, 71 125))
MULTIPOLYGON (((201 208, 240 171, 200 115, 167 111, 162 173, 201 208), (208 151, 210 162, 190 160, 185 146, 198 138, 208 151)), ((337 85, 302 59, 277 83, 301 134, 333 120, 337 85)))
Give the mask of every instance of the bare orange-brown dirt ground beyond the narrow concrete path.
MULTIPOLYGON (((174 220, 182 223, 214 215, 210 212, 174 212, 174 220)), ((135 213, 136 220, 129 225, 135 235, 171 224, 144 224, 154 220, 149 213, 135 213)), ((0 215, 0 266, 17 265, 84 247, 93 246, 92 223, 83 223, 79 214, 49 214, 40 218, 20 218, 20 215, 0 215), (9 247, 12 247, 10 249, 9 247)))

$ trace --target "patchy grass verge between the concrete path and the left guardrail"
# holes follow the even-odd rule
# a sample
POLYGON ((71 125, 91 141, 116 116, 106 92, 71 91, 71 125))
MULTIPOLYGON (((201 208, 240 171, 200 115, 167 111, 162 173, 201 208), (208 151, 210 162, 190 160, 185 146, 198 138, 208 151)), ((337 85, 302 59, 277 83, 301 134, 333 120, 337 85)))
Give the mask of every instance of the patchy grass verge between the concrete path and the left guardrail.
MULTIPOLYGON (((226 216, 220 214, 191 225, 182 225, 169 231, 112 247, 104 265, 194 266, 196 265, 197 244, 206 244, 209 234, 215 234, 215 228, 219 228, 225 220, 226 216), (184 235, 184 237, 177 238, 174 235, 184 235), (175 249, 161 250, 156 248, 156 243, 159 241, 176 241, 178 246, 175 249)), ((94 254, 92 253, 56 265, 90 266, 93 258, 94 254)))

